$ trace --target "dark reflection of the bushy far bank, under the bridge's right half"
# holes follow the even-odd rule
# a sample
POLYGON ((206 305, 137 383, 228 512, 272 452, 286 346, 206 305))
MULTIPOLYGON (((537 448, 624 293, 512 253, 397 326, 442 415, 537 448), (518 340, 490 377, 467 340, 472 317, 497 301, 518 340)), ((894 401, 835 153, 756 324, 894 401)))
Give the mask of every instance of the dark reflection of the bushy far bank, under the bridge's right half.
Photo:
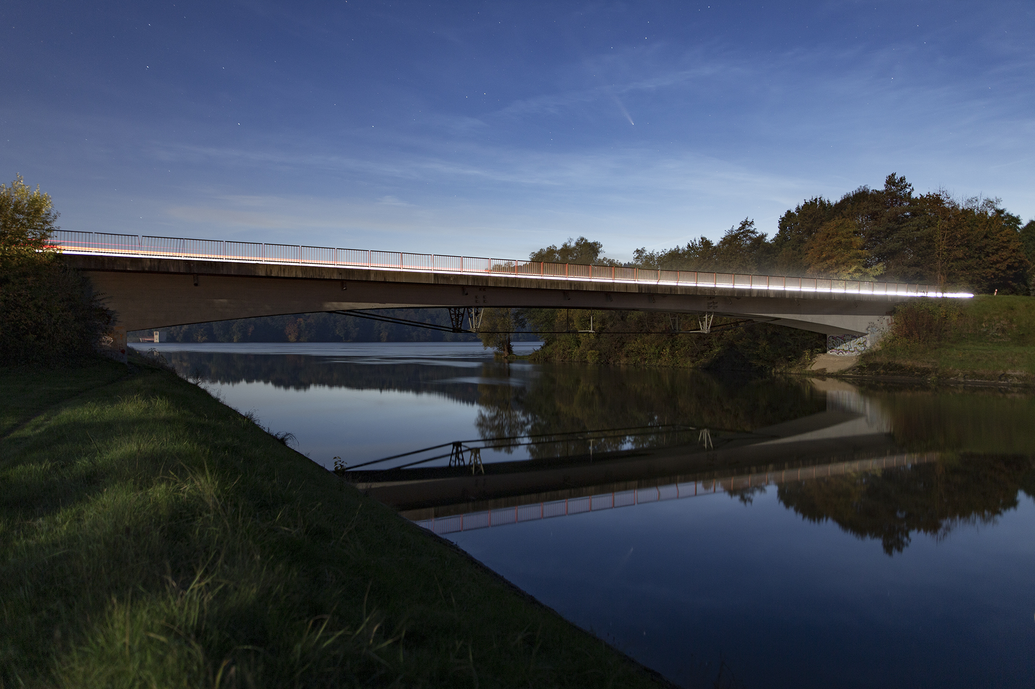
MULTIPOLYGON (((826 409, 824 396, 796 379, 570 364, 543 365, 537 374, 526 387, 478 386, 477 428, 482 438, 549 439, 578 430, 675 424, 750 431, 826 409)), ((593 449, 658 446, 673 440, 671 434, 619 436, 594 440, 593 449)), ((533 445, 529 451, 533 458, 582 455, 590 451, 590 443, 566 440, 533 445)))

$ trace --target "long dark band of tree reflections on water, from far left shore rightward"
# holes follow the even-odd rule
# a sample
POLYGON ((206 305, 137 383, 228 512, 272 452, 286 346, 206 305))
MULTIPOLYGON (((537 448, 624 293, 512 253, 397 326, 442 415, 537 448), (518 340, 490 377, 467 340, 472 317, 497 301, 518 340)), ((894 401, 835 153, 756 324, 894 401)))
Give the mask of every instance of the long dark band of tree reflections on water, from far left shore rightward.
MULTIPOLYGON (((479 406, 482 438, 684 424, 749 431, 826 408, 804 381, 713 374, 687 369, 505 362, 349 361, 305 354, 169 352, 183 376, 217 383, 266 382, 431 394, 479 406), (481 382, 471 382, 481 381, 481 382)), ((694 436, 696 437, 696 436, 694 436)), ((594 451, 668 444, 671 437, 594 440, 594 451)), ((532 457, 581 455, 589 441, 533 446, 532 457)))

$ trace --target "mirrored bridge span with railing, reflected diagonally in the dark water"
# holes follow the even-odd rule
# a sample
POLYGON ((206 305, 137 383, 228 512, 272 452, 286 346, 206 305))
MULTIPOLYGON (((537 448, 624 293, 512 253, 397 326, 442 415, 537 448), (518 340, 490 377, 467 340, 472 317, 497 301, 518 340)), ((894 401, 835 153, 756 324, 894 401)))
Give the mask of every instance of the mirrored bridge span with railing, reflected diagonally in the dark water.
POLYGON ((878 405, 842 383, 827 385, 825 411, 753 433, 694 432, 697 442, 682 446, 497 462, 486 465, 485 475, 436 467, 350 478, 403 516, 448 534, 716 493, 748 500, 767 486, 908 468, 941 457, 905 451, 878 405))

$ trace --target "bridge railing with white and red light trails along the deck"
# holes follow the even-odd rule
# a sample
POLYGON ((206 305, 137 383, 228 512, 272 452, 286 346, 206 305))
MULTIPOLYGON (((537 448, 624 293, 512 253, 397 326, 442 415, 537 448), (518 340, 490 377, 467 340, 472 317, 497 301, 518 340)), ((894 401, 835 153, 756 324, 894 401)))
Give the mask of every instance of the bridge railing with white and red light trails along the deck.
POLYGON ((969 292, 943 291, 935 285, 824 278, 792 278, 741 273, 659 271, 622 265, 548 263, 510 258, 418 254, 367 249, 335 249, 297 244, 261 244, 175 237, 116 234, 58 230, 54 246, 68 253, 106 256, 190 258, 293 265, 372 268, 392 271, 459 273, 467 275, 514 275, 519 277, 592 282, 634 282, 726 287, 792 292, 830 292, 893 296, 973 296, 969 292))

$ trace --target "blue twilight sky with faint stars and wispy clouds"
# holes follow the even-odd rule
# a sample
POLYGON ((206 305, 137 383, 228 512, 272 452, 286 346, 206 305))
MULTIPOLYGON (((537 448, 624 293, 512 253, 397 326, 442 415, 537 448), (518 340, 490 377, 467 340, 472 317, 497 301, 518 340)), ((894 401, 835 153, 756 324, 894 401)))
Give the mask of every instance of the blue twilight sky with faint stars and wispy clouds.
POLYGON ((0 177, 64 229, 523 257, 891 171, 1035 216, 1031 2, 10 2, 0 177))

